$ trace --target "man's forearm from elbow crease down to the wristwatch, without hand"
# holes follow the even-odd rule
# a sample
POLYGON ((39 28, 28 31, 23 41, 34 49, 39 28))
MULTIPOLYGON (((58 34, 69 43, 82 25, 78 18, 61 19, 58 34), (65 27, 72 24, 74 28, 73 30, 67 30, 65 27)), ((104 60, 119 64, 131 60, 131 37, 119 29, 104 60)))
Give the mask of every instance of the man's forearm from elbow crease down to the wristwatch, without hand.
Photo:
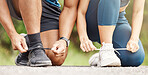
POLYGON ((70 38, 77 17, 77 6, 64 6, 60 15, 59 30, 60 37, 70 38))

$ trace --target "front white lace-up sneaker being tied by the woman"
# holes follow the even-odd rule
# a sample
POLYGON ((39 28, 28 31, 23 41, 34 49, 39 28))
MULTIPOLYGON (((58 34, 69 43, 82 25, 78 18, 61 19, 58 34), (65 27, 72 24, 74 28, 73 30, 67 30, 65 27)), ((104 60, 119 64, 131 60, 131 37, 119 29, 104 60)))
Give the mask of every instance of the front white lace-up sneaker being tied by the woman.
POLYGON ((114 51, 113 44, 103 43, 99 52, 100 66, 121 66, 121 61, 114 51))

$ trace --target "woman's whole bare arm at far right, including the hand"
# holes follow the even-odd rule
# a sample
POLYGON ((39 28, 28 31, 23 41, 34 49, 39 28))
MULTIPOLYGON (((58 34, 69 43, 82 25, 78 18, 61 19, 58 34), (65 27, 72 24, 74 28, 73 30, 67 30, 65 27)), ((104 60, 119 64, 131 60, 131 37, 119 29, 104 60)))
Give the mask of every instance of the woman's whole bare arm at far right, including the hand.
POLYGON ((134 0, 132 16, 132 33, 127 49, 136 52, 139 49, 138 41, 143 22, 145 0, 134 0))

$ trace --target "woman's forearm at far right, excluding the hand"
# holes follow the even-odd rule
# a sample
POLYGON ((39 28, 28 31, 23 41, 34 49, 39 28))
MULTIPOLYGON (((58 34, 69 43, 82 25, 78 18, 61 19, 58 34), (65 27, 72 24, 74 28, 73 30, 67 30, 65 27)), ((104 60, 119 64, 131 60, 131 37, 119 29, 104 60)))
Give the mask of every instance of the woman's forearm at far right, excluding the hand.
POLYGON ((143 22, 143 12, 144 12, 144 0, 140 3, 134 1, 133 5, 133 16, 132 16, 132 34, 131 39, 139 40, 139 35, 143 22))

